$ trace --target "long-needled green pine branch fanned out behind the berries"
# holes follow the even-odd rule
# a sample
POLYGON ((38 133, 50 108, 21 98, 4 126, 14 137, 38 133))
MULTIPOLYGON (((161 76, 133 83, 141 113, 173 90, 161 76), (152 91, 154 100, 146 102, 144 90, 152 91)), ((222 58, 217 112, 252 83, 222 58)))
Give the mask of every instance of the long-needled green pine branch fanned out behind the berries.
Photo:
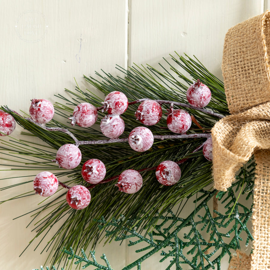
MULTIPOLYGON (((103 74, 96 73, 98 79, 85 77, 85 80, 89 82, 90 86, 94 86, 104 95, 107 95, 111 91, 121 91, 130 101, 136 101, 141 98, 173 101, 175 104, 178 104, 178 106, 175 105, 176 107, 183 108, 182 104, 186 102, 185 92, 188 84, 192 83, 192 79, 188 79, 182 75, 181 71, 176 69, 176 64, 180 69, 190 73, 193 79, 196 80, 199 78, 211 89, 212 101, 206 109, 213 112, 214 115, 209 115, 205 111, 185 107, 185 110, 195 117, 203 130, 210 130, 219 119, 220 115, 228 114, 222 82, 203 67, 197 59, 193 60, 189 57, 187 57, 187 59, 183 57, 176 59, 173 57, 173 62, 174 64, 167 62, 168 68, 161 66, 163 69, 162 72, 150 66, 139 67, 135 65, 129 70, 124 70, 117 66, 117 69, 121 71, 122 75, 125 77, 114 77, 102 71, 103 74), (186 84, 183 84, 182 81, 186 82, 186 84)), ((56 151, 60 146, 66 143, 74 143, 74 138, 84 142, 97 141, 103 137, 96 127, 70 127, 70 123, 67 121, 67 118, 69 118, 73 112, 73 108, 78 103, 89 102, 95 107, 100 107, 102 99, 94 95, 90 90, 83 90, 78 86, 75 88, 75 91, 66 91, 72 98, 67 99, 59 94, 57 96, 64 104, 58 102, 55 105, 55 113, 62 117, 62 121, 52 120, 46 124, 47 128, 45 129, 42 126, 35 125, 31 121, 28 121, 26 119, 27 117, 21 117, 16 113, 12 113, 16 122, 27 130, 27 132, 23 134, 29 136, 29 141, 31 141, 32 136, 35 136, 39 137, 47 145, 46 151, 42 150, 43 153, 41 153, 39 144, 35 145, 27 141, 12 139, 12 141, 6 142, 5 146, 1 144, 1 150, 5 152, 6 159, 12 161, 13 157, 18 157, 18 161, 13 162, 13 170, 36 170, 38 168, 43 170, 46 168, 46 170, 53 170, 53 172, 57 171, 57 177, 65 179, 65 181, 62 182, 66 185, 85 185, 80 176, 81 167, 82 164, 90 158, 98 158, 104 162, 107 169, 106 178, 116 176, 127 168, 141 170, 155 167, 164 160, 179 161, 186 158, 189 158, 189 160, 180 165, 182 170, 181 181, 173 187, 161 187, 155 180, 155 172, 143 171, 142 176, 143 179, 145 179, 143 187, 139 193, 135 193, 131 196, 120 193, 117 188, 114 187, 116 182, 112 181, 97 185, 92 189, 91 208, 85 208, 81 211, 70 209, 69 206, 64 203, 64 193, 58 193, 59 195, 56 197, 56 200, 59 202, 58 204, 54 204, 48 200, 44 201, 41 208, 37 208, 33 210, 33 212, 31 211, 33 220, 36 221, 35 229, 37 230, 37 235, 40 235, 41 232, 47 233, 53 226, 58 226, 57 221, 65 221, 62 222, 64 225, 59 225, 57 233, 55 233, 53 238, 44 247, 44 250, 51 250, 52 264, 56 261, 61 262, 63 254, 61 254, 59 248, 63 245, 73 246, 75 253, 79 247, 86 249, 89 244, 92 244, 92 247, 95 246, 101 233, 99 233, 98 227, 93 221, 94 219, 100 219, 102 216, 104 216, 105 219, 109 219, 112 215, 118 219, 121 214, 125 214, 127 218, 121 220, 119 226, 133 229, 140 225, 141 229, 139 229, 138 233, 142 232, 143 227, 149 232, 170 207, 185 198, 189 198, 212 182, 211 163, 202 157, 201 150, 192 153, 194 149, 204 143, 205 139, 173 139, 170 137, 173 134, 169 130, 164 129, 164 127, 167 126, 165 117, 163 117, 157 125, 151 127, 154 136, 162 136, 164 139, 156 140, 152 149, 144 153, 135 153, 126 143, 117 142, 110 145, 82 144, 79 145, 83 157, 81 164, 74 170, 62 172, 55 164, 50 163, 50 161, 55 158, 56 151), (70 134, 67 134, 67 132, 53 131, 54 129, 67 130, 73 134, 73 137, 70 137, 70 134), (108 155, 109 151, 110 155, 108 155), (114 159, 112 160, 111 157, 114 159), (16 164, 16 166, 14 164, 16 164), (142 168, 142 164, 144 168, 142 168), (106 193, 106 196, 103 196, 104 193, 106 193), (47 211, 47 209, 53 209, 50 215, 46 216, 45 219, 39 219, 40 214, 43 211, 47 211), (92 209, 95 209, 95 211, 92 209), (158 215, 156 215, 157 211, 159 211, 158 215), (132 224, 128 224, 127 220, 133 220, 132 224), (94 235, 94 237, 91 237, 91 235, 94 235), (52 247, 56 251, 52 251, 52 247)), ((141 125, 134 118, 136 109, 136 104, 130 104, 129 109, 121 116, 126 125, 126 130, 122 135, 123 138, 126 138, 133 128, 141 125)), ((9 110, 9 108, 2 107, 2 110, 9 110)), ((99 111, 98 121, 100 121, 103 116, 104 113, 99 111)), ((193 123, 191 131, 187 133, 187 137, 192 137, 194 134, 198 136, 201 132, 202 131, 193 123)), ((205 133, 205 135, 207 134, 205 133)), ((27 181, 15 185, 25 183, 27 183, 27 181)), ((14 185, 3 187, 3 189, 13 186, 14 185)), ((34 191, 32 191, 32 194, 33 193, 34 191)), ((220 193, 219 196, 222 197, 224 195, 220 193)), ((31 222, 32 221, 30 221, 30 223, 31 222)), ((119 233, 120 231, 118 230, 113 231, 111 238, 116 237, 119 233)), ((167 244, 171 244, 170 241, 171 240, 168 240, 167 244)), ((179 246, 181 246, 181 242, 179 242, 179 246)), ((136 264, 136 266, 139 269, 139 264, 136 264)))

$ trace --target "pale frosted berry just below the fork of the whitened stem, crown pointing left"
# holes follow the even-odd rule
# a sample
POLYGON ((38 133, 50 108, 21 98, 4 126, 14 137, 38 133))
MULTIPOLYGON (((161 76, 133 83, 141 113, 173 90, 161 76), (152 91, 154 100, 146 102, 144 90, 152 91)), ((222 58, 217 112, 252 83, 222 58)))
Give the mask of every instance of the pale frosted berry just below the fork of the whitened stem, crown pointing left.
POLYGON ((59 164, 59 168, 74 169, 82 160, 80 149, 73 144, 65 144, 61 146, 56 154, 56 158, 52 161, 59 164))

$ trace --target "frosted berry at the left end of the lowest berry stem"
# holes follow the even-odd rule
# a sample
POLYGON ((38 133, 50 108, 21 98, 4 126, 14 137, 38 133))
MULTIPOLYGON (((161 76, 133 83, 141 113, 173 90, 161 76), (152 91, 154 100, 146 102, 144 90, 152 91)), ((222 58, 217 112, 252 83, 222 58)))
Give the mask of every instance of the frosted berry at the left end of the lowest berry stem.
POLYGON ((54 194, 58 189, 58 180, 56 176, 50 172, 41 172, 36 175, 33 182, 36 194, 48 197, 54 194))

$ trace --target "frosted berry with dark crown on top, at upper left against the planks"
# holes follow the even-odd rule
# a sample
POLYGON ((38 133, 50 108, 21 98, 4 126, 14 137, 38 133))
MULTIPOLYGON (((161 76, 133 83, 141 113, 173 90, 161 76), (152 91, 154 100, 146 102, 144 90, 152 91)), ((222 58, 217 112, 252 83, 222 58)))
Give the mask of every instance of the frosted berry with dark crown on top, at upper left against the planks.
POLYGON ((29 108, 29 114, 35 122, 45 124, 52 120, 54 108, 48 100, 34 98, 29 108))

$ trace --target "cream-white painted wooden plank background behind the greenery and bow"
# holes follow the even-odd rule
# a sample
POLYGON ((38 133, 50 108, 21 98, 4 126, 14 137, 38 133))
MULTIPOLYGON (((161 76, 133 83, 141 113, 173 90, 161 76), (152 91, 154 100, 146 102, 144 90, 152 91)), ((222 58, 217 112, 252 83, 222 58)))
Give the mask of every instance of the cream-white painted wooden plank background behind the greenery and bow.
MULTIPOLYGON (((221 78, 227 30, 268 7, 268 1, 259 0, 1 1, 0 104, 28 111, 32 98, 55 102, 55 94, 64 93, 64 88, 74 89, 73 77, 83 88, 83 74, 93 75, 102 68, 115 75, 119 73, 116 64, 127 67, 133 62, 155 66, 174 51, 196 55, 221 78), (33 18, 40 29, 26 28, 33 18)), ((17 138, 19 131, 15 131, 17 138)), ((8 168, 2 164, 0 169, 8 168)), ((18 182, 19 176, 1 171, 1 178, 14 179, 1 182, 0 187, 18 182)), ((0 198, 30 189, 31 185, 24 190, 5 190, 0 198)), ((34 244, 18 257, 35 236, 33 227, 26 229, 29 215, 12 220, 40 201, 26 197, 0 206, 1 268, 27 270, 44 265, 47 253, 40 254, 42 248, 33 251, 34 244)), ((96 253, 105 252, 112 267, 121 269, 134 260, 133 250, 126 247, 126 243, 121 247, 118 243, 103 247, 101 243, 96 253)), ((144 262, 142 269, 162 269, 157 258, 144 262)), ((223 269, 226 267, 224 262, 223 269)))

